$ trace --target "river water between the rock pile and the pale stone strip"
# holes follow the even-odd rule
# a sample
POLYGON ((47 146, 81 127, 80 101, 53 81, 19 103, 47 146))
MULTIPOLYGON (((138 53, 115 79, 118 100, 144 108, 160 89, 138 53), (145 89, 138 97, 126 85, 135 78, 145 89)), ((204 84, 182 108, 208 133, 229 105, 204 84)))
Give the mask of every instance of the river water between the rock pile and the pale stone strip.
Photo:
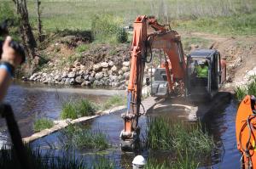
MULTIPOLYGON (((113 94, 124 91, 110 89, 53 87, 28 82, 15 82, 9 87, 5 102, 12 105, 22 137, 32 134, 32 124, 39 117, 58 119, 61 105, 67 100, 90 99, 102 103, 113 94)), ((6 126, 0 121, 2 138, 6 138, 6 126)))

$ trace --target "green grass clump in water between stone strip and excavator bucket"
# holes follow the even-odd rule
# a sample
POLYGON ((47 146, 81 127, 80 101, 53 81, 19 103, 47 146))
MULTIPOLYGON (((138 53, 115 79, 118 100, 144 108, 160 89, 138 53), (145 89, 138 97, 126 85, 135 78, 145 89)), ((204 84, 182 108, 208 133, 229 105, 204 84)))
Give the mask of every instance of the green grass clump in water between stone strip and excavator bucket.
POLYGON ((59 138, 61 146, 65 149, 108 149, 108 138, 100 130, 91 131, 79 125, 68 126, 59 138))

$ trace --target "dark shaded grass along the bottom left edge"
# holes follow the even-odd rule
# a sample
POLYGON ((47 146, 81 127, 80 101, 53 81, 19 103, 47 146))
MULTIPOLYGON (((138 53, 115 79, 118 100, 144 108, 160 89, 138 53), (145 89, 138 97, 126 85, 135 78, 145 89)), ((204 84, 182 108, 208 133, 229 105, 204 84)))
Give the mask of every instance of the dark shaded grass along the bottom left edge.
MULTIPOLYGON (((26 155, 28 160, 32 164, 32 168, 37 169, 113 169, 115 165, 113 161, 110 161, 104 156, 96 159, 97 162, 92 162, 90 164, 86 163, 81 158, 76 158, 76 155, 61 155, 55 156, 49 153, 45 155, 41 154, 39 148, 31 149, 26 146, 26 155)), ((11 149, 6 146, 0 149, 0 168, 1 169, 21 169, 17 156, 15 155, 15 150, 13 147, 11 149)))

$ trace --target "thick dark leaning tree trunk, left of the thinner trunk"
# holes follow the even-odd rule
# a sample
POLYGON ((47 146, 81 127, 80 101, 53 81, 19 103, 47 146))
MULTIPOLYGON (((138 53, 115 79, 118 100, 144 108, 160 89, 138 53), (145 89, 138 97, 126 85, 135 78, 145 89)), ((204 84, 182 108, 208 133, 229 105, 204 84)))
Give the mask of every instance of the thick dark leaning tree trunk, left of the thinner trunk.
POLYGON ((37 42, 32 33, 32 27, 29 24, 28 13, 26 8, 26 0, 13 0, 16 5, 17 14, 20 18, 20 33, 26 54, 30 59, 35 57, 35 48, 37 42))

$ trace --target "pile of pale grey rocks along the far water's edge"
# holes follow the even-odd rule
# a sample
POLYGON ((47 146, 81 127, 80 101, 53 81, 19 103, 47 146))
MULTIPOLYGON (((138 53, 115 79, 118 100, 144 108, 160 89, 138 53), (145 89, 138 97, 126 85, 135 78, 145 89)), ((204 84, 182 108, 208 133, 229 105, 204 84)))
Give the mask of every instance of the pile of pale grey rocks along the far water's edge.
POLYGON ((101 62, 86 68, 76 61, 73 66, 64 70, 52 70, 51 72, 37 72, 29 77, 30 81, 81 85, 81 86, 111 86, 124 88, 125 82, 130 76, 130 62, 125 61, 122 65, 115 65, 113 61, 101 62))

